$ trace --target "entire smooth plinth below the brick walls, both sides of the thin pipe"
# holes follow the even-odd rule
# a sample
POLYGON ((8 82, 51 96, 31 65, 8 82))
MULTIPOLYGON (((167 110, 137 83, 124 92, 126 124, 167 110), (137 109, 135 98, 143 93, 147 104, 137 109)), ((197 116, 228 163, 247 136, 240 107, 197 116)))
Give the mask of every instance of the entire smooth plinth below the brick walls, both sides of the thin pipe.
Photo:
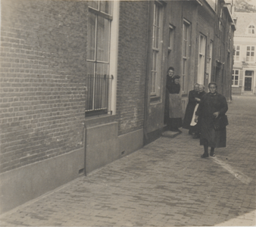
POLYGON ((105 166, 143 146, 143 129, 117 135, 118 123, 104 123, 86 129, 85 148, 52 159, 32 163, 0 175, 0 213, 14 209, 42 194, 105 166))

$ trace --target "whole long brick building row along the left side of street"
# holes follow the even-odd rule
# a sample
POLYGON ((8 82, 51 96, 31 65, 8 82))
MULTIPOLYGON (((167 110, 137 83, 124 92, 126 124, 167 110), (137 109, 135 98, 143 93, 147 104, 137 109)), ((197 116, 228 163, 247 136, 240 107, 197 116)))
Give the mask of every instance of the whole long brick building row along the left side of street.
POLYGON ((1 213, 158 138, 169 66, 183 110, 195 82, 230 99, 231 6, 2 0, 1 213))

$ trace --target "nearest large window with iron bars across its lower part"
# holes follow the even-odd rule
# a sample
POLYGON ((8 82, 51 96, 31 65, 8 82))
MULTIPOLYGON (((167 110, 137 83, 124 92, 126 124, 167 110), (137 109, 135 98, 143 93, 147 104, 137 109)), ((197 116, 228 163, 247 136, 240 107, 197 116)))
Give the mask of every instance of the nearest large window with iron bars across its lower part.
POLYGON ((86 115, 108 113, 112 2, 89 1, 86 115))

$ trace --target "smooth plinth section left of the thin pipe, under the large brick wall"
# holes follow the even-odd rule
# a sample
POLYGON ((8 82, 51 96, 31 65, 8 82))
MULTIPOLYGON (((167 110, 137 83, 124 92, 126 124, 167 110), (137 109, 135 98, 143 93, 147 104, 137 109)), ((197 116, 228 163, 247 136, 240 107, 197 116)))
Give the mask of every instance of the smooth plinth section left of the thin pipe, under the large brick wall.
POLYGON ((0 175, 0 213, 5 213, 76 179, 84 166, 84 148, 0 175))

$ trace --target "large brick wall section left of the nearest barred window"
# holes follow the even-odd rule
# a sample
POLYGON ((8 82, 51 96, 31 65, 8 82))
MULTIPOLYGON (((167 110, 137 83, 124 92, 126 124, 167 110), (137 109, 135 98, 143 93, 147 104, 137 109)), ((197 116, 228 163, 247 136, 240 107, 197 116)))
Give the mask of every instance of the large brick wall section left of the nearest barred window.
POLYGON ((83 147, 85 5, 2 0, 1 173, 83 147))

